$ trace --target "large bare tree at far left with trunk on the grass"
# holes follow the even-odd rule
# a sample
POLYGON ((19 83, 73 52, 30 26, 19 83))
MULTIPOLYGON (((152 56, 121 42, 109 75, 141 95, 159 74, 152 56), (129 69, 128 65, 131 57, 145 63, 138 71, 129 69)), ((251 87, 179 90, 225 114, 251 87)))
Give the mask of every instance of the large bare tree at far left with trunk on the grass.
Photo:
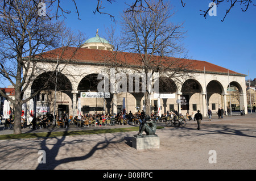
POLYGON ((59 52, 51 53, 57 53, 60 60, 68 64, 77 48, 69 53, 70 58, 62 58, 61 54, 69 46, 79 47, 82 39, 81 36, 73 35, 65 27, 64 22, 51 20, 52 17, 48 18, 50 14, 40 16, 34 1, 3 1, 0 3, 0 16, 0 77, 14 86, 15 99, 10 99, 1 90, 0 94, 14 105, 14 134, 20 134, 22 104, 28 102, 42 89, 46 89, 58 67, 55 64, 55 69, 48 74, 44 82, 41 82, 40 88, 23 99, 30 83, 39 73, 47 71, 38 66, 38 62, 47 60, 47 54, 44 52, 49 53, 49 50, 61 47, 58 49, 59 52))

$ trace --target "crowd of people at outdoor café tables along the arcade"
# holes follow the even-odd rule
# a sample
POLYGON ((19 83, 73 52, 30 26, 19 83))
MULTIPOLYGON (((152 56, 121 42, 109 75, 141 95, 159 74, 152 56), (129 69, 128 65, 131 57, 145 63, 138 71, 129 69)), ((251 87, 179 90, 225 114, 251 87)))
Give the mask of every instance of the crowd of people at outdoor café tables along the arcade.
MULTIPOLYGON (((255 107, 254 107, 255 110, 255 107)), ((231 109, 228 107, 227 113, 230 116, 231 109)), ((197 112, 198 113, 198 112, 197 112)), ((224 110, 222 107, 218 108, 218 111, 216 112, 218 115, 218 119, 223 119, 224 116, 224 110)), ((158 120, 164 120, 167 116, 174 117, 174 116, 183 116, 181 113, 179 114, 176 110, 174 111, 167 111, 166 113, 163 113, 161 116, 158 113, 151 113, 151 118, 154 118, 156 121, 158 120)), ((213 112, 208 109, 208 118, 209 121, 212 119, 213 112)), ((88 121, 92 124, 97 124, 100 125, 100 123, 110 123, 111 120, 114 120, 114 124, 120 124, 122 120, 126 121, 126 124, 131 124, 131 122, 136 121, 137 123, 142 123, 144 118, 146 117, 146 113, 142 111, 138 111, 135 113, 132 113, 131 111, 129 113, 118 113, 116 116, 113 116, 109 113, 104 115, 103 113, 96 113, 96 114, 85 114, 85 115, 80 115, 80 116, 75 116, 74 118, 72 116, 67 115, 67 113, 62 113, 61 116, 55 116, 55 121, 53 121, 53 115, 39 115, 39 116, 33 116, 30 115, 28 119, 25 117, 22 117, 21 124, 22 128, 31 128, 31 129, 37 129, 37 128, 47 128, 50 123, 53 125, 57 125, 58 122, 63 123, 65 127, 69 127, 69 125, 75 124, 80 124, 81 127, 85 126, 85 121, 88 121), (53 122, 52 122, 53 121, 53 122)), ((184 117, 184 116, 183 116, 184 117)), ((184 117, 185 118, 185 117, 184 117)), ((186 114, 187 120, 194 120, 196 121, 196 114, 192 112, 189 114, 187 112, 186 114)), ((1 115, 1 122, 2 124, 3 116, 1 115)), ((14 125, 14 117, 13 115, 10 115, 9 119, 5 120, 5 124, 9 126, 9 129, 13 128, 14 125)))

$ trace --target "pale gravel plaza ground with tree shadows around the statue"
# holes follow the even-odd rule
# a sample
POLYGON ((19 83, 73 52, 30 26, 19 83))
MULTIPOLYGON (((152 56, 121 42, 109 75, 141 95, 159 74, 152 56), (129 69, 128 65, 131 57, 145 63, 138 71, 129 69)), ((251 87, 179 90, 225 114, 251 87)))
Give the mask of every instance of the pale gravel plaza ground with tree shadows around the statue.
MULTIPOLYGON (((133 126, 138 125, 126 125, 126 127, 133 126)), ((104 128, 112 127, 97 127, 97 129, 104 128)), ((160 148, 148 150, 136 150, 132 147, 131 137, 137 132, 1 140, 0 168, 15 170, 256 169, 254 112, 253 115, 249 113, 246 116, 225 116, 222 120, 213 117, 212 121, 208 121, 204 118, 201 130, 196 128, 196 121, 187 121, 185 127, 157 129, 160 148), (46 163, 39 163, 39 150, 45 151, 46 163)), ((94 127, 69 129, 94 129, 94 127)), ((65 131, 65 129, 57 130, 65 131)), ((38 129, 34 132, 39 131, 46 129, 38 129)), ((31 132, 31 129, 23 129, 23 132, 31 132)), ((0 134, 10 133, 13 131, 3 131, 1 125, 0 134)))

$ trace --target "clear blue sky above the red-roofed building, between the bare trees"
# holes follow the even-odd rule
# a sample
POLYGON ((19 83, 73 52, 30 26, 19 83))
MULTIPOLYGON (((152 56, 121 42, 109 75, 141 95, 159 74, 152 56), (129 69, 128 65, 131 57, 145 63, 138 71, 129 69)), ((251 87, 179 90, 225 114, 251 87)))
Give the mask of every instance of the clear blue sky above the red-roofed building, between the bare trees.
MULTIPOLYGON (((226 2, 223 6, 217 7, 217 16, 208 16, 207 19, 200 15, 200 10, 208 9, 211 1, 185 0, 185 7, 179 0, 170 2, 174 6, 173 10, 176 11, 170 21, 184 22, 184 30, 187 30, 183 43, 188 50, 188 58, 208 61, 246 75, 249 71, 250 78, 256 78, 255 6, 250 6, 246 12, 241 11, 242 6, 234 7, 224 22, 221 22, 229 5, 226 2)), ((61 3, 64 9, 71 10, 71 14, 66 15, 67 26, 73 31, 84 32, 88 39, 96 35, 97 28, 100 36, 106 36, 105 28, 110 27, 111 24, 115 24, 118 31, 120 14, 127 7, 121 0, 112 4, 103 1, 105 9, 102 11, 114 15, 116 21, 114 23, 108 15, 93 14, 97 1, 76 1, 81 20, 78 20, 75 6, 71 1, 61 3)))

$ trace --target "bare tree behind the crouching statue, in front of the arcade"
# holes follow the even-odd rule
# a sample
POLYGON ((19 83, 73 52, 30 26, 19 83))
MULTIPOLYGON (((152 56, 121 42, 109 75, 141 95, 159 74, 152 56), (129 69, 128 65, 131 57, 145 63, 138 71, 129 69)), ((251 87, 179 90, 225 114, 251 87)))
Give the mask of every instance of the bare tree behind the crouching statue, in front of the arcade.
MULTIPOLYGON (((181 82, 192 71, 191 62, 184 59, 186 52, 180 41, 185 31, 182 24, 170 23, 171 6, 162 1, 147 1, 148 7, 134 7, 133 11, 126 11, 122 15, 122 58, 114 58, 122 68, 129 68, 134 73, 144 75, 158 74, 163 77, 168 87, 169 81, 181 82), (177 58, 172 58, 177 57, 177 58)), ((150 78, 150 77, 147 77, 150 78)), ((152 78, 152 77, 151 77, 152 78)), ((152 80, 155 83, 156 78, 152 80)), ((170 84, 172 85, 172 84, 170 84)), ((144 92, 146 113, 150 115, 150 94, 152 89, 147 85, 144 92)), ((171 89, 171 87, 170 87, 171 89)))

